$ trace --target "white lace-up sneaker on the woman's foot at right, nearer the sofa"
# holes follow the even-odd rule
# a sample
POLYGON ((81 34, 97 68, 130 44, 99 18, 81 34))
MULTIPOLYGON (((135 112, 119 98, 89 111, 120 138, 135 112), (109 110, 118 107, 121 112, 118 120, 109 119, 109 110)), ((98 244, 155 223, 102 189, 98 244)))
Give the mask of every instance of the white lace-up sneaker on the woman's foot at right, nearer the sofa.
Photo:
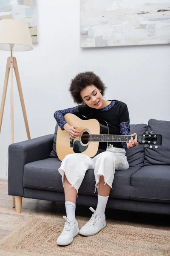
POLYGON ((92 207, 90 207, 89 209, 94 212, 94 214, 79 231, 79 234, 83 236, 93 236, 106 227, 105 216, 104 218, 102 218, 99 214, 96 213, 96 211, 92 207))

